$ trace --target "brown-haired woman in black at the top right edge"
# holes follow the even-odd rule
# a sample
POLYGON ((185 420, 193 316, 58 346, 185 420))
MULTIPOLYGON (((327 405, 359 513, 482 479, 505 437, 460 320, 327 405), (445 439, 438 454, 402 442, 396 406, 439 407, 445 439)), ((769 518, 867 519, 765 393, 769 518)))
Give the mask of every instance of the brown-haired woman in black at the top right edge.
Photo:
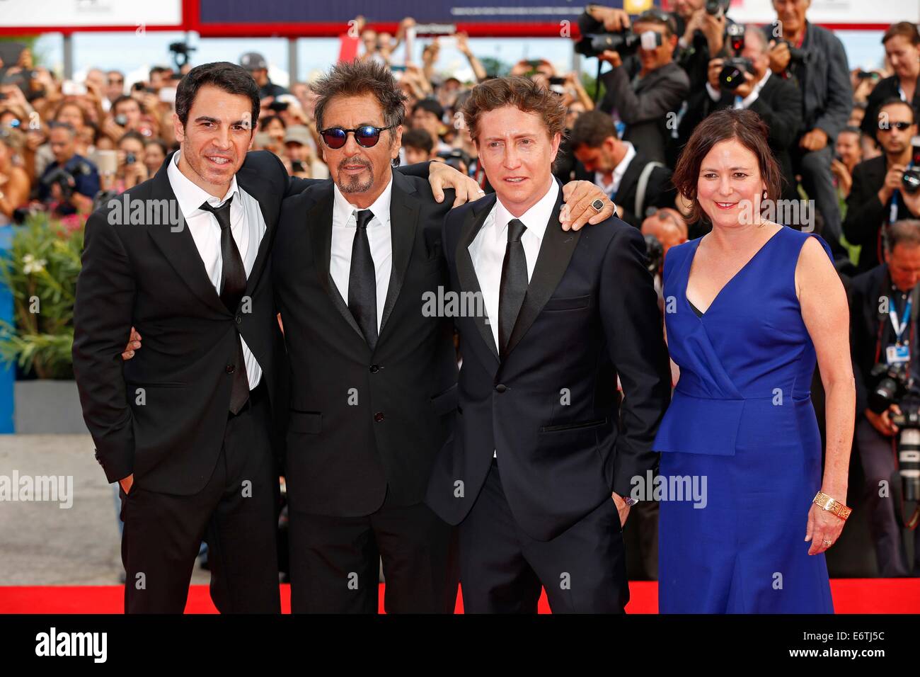
POLYGON ((862 130, 863 134, 873 138, 876 137, 882 101, 897 97, 908 101, 914 107, 914 113, 920 112, 920 88, 917 87, 917 82, 920 82, 920 32, 915 24, 900 21, 885 31, 881 43, 894 75, 880 80, 868 95, 862 130))

